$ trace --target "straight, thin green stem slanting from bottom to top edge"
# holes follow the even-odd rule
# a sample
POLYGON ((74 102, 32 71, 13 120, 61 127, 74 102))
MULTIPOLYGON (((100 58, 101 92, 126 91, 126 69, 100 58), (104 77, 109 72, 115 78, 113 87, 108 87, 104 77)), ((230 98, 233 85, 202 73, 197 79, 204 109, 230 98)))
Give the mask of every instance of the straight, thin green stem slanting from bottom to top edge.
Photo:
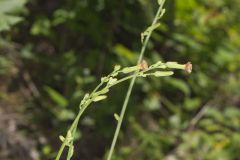
MULTIPOLYGON (((158 17, 161 14, 161 10, 163 8, 163 4, 164 4, 164 1, 159 6, 158 11, 157 11, 157 13, 155 15, 155 18, 154 18, 154 20, 152 22, 152 25, 155 25, 157 23, 158 17)), ((142 60, 143 60, 143 56, 144 56, 144 53, 145 53, 148 41, 149 41, 149 39, 151 37, 151 34, 152 34, 152 31, 149 32, 149 34, 147 35, 146 39, 144 40, 144 43, 143 43, 143 46, 142 46, 142 49, 141 49, 140 56, 138 58, 137 64, 141 63, 142 60)), ((113 154, 116 142, 117 142, 117 138, 118 138, 118 135, 119 135, 119 132, 120 132, 120 128, 122 126, 122 121, 123 121, 123 118, 124 118, 124 115, 125 115, 125 111, 126 111, 126 108, 127 108, 127 105, 128 105, 128 101, 129 101, 129 98, 131 96, 132 89, 133 89, 134 83, 136 81, 136 78, 137 78, 137 75, 135 75, 132 78, 132 80, 130 82, 130 85, 128 87, 128 91, 127 91, 127 94, 126 94, 126 97, 125 97, 125 100, 124 100, 124 103, 123 103, 123 106, 122 106, 121 114, 120 114, 120 117, 119 117, 119 120, 118 120, 117 128, 116 128, 115 133, 114 133, 114 137, 113 137, 113 140, 112 140, 112 144, 111 144, 111 148, 110 148, 107 160, 111 160, 111 158, 112 158, 112 154, 113 154)))

